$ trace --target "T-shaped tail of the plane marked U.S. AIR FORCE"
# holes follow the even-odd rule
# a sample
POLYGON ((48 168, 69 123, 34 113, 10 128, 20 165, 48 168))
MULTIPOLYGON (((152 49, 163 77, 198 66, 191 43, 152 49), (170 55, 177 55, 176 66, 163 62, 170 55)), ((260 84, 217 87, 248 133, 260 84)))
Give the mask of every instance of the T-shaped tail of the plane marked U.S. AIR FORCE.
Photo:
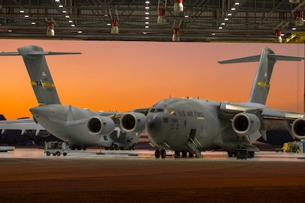
POLYGON ((219 64, 233 64, 243 62, 259 62, 258 69, 255 74, 250 96, 248 98, 249 103, 266 103, 267 95, 270 88, 270 79, 272 75, 273 66, 277 61, 301 61, 305 57, 294 57, 277 55, 267 47, 263 47, 263 51, 260 55, 251 57, 243 57, 238 59, 231 59, 221 61, 219 64))

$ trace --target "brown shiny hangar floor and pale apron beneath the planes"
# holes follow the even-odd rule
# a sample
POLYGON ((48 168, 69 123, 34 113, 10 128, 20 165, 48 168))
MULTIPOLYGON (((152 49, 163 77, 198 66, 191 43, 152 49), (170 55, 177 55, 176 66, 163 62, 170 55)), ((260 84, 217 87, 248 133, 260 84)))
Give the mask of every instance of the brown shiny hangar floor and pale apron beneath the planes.
POLYGON ((154 158, 154 151, 42 149, 0 153, 1 202, 294 202, 304 200, 305 154, 263 151, 236 160, 154 158))

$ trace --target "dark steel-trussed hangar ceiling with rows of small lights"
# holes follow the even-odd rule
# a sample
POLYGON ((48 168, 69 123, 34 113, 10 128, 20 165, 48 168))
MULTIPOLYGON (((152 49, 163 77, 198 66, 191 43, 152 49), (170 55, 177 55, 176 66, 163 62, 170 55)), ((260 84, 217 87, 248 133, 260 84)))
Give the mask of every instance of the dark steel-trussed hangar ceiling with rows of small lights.
POLYGON ((0 38, 286 42, 305 31, 304 9, 290 0, 0 0, 0 38))

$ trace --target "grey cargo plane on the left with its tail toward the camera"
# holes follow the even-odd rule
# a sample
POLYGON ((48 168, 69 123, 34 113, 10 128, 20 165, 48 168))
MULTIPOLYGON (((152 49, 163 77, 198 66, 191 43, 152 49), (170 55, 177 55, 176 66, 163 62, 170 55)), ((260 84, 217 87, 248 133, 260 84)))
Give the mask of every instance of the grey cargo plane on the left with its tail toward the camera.
MULTIPOLYGON (((78 52, 44 52, 39 46, 19 47, 18 52, 2 52, 0 56, 23 57, 28 69, 31 84, 38 100, 39 106, 31 108, 33 120, 24 119, 21 126, 16 126, 22 120, 1 121, 0 129, 37 129, 40 127, 59 139, 69 139, 72 148, 86 149, 87 146, 104 146, 105 149, 125 149, 125 146, 134 149, 139 141, 139 132, 122 132, 120 130, 120 117, 125 113, 94 112, 87 109, 76 108, 71 105, 62 105, 59 100, 45 55, 80 54, 78 52), (26 125, 28 122, 28 125, 26 125), (25 126, 26 125, 26 126, 25 126)), ((145 111, 145 109, 142 109, 145 111)), ((141 111, 142 111, 141 110, 141 111)), ((146 109, 146 111, 148 108, 146 109)), ((127 117, 140 117, 139 126, 145 127, 145 113, 128 112, 127 117)), ((127 124, 128 125, 128 124, 127 124)))

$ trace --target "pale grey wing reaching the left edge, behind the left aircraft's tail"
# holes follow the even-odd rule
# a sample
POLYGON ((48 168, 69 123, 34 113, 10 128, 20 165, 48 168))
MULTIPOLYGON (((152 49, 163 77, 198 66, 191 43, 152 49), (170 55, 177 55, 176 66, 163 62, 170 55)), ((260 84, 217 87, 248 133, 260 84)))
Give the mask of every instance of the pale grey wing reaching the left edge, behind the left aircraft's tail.
POLYGON ((0 120, 1 134, 4 134, 6 129, 20 129, 21 134, 25 134, 28 131, 35 131, 35 135, 40 132, 45 132, 45 128, 40 124, 35 123, 33 119, 21 118, 17 120, 0 120))

